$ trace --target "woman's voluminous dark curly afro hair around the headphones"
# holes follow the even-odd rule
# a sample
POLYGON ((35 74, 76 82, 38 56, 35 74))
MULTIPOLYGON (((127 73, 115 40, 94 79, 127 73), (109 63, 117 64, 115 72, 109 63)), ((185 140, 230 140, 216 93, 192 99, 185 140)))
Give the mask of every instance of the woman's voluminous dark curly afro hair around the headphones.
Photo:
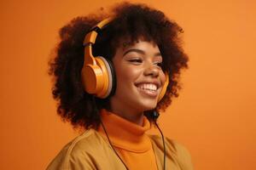
MULTIPOLYGON (((165 111, 172 98, 181 89, 179 77, 181 69, 188 68, 188 56, 183 52, 179 35, 180 26, 169 20, 160 10, 145 4, 119 3, 109 14, 90 14, 71 20, 59 31, 60 42, 55 54, 49 59, 49 75, 53 77, 53 98, 57 101, 57 113, 73 127, 97 127, 100 115, 96 108, 108 108, 108 99, 97 99, 84 92, 81 82, 81 69, 84 65, 84 36, 101 20, 111 16, 113 20, 96 38, 93 46, 95 56, 111 60, 121 39, 129 43, 144 41, 155 42, 163 57, 163 71, 170 77, 166 94, 158 103, 156 110, 165 111)), ((148 116, 149 121, 153 121, 148 116)))

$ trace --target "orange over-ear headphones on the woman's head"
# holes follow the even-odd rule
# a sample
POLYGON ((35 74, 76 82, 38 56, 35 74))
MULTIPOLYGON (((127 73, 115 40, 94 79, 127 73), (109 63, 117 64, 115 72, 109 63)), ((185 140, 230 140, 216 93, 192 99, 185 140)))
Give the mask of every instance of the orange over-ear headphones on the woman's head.
MULTIPOLYGON (((115 72, 113 64, 102 56, 94 57, 92 54, 92 45, 96 42, 98 32, 101 31, 111 18, 102 20, 94 26, 84 37, 84 65, 81 71, 84 90, 88 94, 94 94, 96 97, 105 99, 115 91, 115 72)), ((169 76, 166 73, 166 82, 160 92, 158 102, 166 94, 166 88, 169 83, 169 76)))

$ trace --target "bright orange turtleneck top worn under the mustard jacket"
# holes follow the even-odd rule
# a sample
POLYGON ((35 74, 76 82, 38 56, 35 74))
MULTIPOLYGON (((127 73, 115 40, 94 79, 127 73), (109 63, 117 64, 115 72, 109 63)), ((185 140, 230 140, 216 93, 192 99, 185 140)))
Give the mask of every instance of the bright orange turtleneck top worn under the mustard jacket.
MULTIPOLYGON (((148 135, 150 128, 148 119, 143 117, 143 126, 129 122, 106 110, 101 111, 102 123, 108 137, 125 165, 129 169, 157 170, 154 150, 148 135)), ((106 133, 102 126, 98 132, 106 140, 106 133)))

